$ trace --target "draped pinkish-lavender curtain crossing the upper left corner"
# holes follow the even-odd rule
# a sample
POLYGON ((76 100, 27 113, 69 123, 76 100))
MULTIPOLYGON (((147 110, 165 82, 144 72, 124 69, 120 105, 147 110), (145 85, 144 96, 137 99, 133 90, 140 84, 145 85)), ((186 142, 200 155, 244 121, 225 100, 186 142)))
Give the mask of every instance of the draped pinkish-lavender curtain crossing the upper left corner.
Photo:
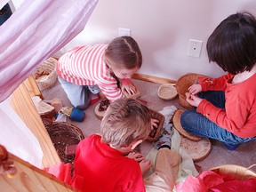
POLYGON ((98 0, 25 0, 0 26, 0 102, 80 33, 98 0))

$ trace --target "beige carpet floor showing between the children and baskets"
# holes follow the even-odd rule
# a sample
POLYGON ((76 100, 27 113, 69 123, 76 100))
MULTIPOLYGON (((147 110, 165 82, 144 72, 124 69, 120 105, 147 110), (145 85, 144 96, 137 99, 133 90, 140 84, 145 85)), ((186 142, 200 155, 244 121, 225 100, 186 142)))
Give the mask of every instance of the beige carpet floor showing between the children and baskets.
MULTIPOLYGON (((148 102, 148 108, 156 111, 160 111, 164 107, 172 105, 176 106, 176 108, 182 108, 180 107, 177 98, 174 100, 162 100, 158 97, 157 90, 160 84, 153 84, 135 79, 133 82, 140 90, 140 99, 148 102)), ((46 90, 42 93, 44 100, 59 98, 63 106, 70 106, 66 93, 62 90, 59 82, 57 82, 52 89, 46 90)), ((97 103, 99 102, 100 101, 97 103)), ((75 124, 82 130, 85 137, 91 135, 92 133, 100 132, 100 120, 94 115, 94 108, 97 103, 84 110, 85 119, 83 122, 72 122, 72 124, 75 124)), ((71 122, 70 119, 68 119, 68 122, 71 122)), ((222 164, 237 164, 244 167, 249 167, 252 164, 256 164, 255 146, 256 141, 252 141, 251 143, 246 143, 239 146, 235 151, 229 151, 219 141, 213 140, 212 151, 209 156, 200 162, 196 162, 196 164, 200 165, 203 170, 208 170, 222 164)), ((148 154, 150 148, 152 148, 152 143, 149 141, 144 141, 142 144, 140 144, 140 151, 144 156, 148 154)))

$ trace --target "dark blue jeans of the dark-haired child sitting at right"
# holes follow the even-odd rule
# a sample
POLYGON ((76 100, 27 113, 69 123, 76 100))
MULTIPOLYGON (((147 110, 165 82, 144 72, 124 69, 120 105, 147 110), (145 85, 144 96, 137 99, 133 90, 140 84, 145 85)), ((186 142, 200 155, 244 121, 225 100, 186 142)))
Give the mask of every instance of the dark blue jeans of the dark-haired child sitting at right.
MULTIPOLYGON (((200 92, 197 96, 210 101, 217 108, 225 108, 225 92, 200 92)), ((234 150, 244 142, 256 140, 256 137, 244 139, 236 136, 232 132, 228 132, 226 129, 221 128, 202 114, 196 112, 196 108, 182 113, 180 123, 187 132, 204 138, 220 140, 230 150, 234 150)))

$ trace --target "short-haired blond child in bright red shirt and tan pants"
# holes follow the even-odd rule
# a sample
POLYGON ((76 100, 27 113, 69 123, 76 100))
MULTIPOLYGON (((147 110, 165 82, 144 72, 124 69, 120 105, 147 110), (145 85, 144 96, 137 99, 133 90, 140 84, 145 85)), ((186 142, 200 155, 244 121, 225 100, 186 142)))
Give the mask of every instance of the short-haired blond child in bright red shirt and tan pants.
MULTIPOLYGON (((133 99, 112 102, 102 119, 100 135, 92 134, 76 148, 71 186, 93 192, 145 191, 142 174, 150 169, 151 162, 140 153, 131 152, 147 139, 150 131, 146 106, 133 99)), ((171 135, 164 135, 161 140, 164 137, 164 145, 169 147, 159 149, 156 171, 146 181, 147 191, 171 191, 178 174, 180 154, 169 149, 171 135)))

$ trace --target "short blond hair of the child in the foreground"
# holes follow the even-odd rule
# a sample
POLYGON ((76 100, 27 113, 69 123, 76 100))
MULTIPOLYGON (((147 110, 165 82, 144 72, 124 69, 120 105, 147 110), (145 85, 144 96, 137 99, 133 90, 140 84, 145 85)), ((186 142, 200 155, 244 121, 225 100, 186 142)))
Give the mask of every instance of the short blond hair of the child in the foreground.
POLYGON ((112 102, 100 125, 101 140, 113 147, 127 147, 134 140, 146 140, 150 130, 148 108, 133 99, 112 102))

